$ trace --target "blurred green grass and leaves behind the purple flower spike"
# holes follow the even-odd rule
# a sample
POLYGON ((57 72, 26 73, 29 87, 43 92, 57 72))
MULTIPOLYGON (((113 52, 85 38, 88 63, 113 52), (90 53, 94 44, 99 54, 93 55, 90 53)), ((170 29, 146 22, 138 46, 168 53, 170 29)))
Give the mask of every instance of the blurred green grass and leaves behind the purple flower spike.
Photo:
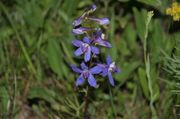
POLYGON ((165 13, 172 1, 1 0, 0 119, 83 118, 86 86, 74 86, 71 30, 93 3, 94 16, 111 20, 113 48, 101 55, 108 52, 122 72, 115 87, 98 79, 87 118, 180 118, 180 22, 165 13))

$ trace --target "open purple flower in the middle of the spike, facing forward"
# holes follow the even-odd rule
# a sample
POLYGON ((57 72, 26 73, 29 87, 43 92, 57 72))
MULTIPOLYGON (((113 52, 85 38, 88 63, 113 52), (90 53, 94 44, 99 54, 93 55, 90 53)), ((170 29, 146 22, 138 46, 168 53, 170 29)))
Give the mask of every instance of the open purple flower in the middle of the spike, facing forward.
POLYGON ((74 52, 75 56, 80 56, 84 54, 84 61, 88 62, 91 58, 91 52, 93 54, 99 54, 99 49, 95 46, 91 46, 91 41, 88 37, 83 38, 83 42, 80 40, 72 41, 73 45, 78 47, 78 49, 74 52))

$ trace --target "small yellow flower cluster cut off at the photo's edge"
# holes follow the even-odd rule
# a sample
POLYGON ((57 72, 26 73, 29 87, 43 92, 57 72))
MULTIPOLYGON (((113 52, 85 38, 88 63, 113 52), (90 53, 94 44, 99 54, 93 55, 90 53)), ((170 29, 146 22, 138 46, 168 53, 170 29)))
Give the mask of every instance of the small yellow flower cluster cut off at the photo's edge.
POLYGON ((171 15, 174 21, 180 20, 180 5, 177 2, 173 2, 170 8, 166 9, 166 14, 171 15))

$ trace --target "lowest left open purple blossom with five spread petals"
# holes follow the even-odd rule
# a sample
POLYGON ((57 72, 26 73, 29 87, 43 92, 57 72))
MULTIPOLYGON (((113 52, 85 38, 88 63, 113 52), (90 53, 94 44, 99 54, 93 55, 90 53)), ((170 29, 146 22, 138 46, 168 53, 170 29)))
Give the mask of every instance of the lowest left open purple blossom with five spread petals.
POLYGON ((101 68, 99 66, 94 66, 89 69, 85 63, 81 63, 81 69, 77 68, 75 65, 71 65, 71 68, 74 72, 80 74, 80 76, 76 80, 76 86, 82 85, 85 79, 88 79, 88 83, 92 87, 97 87, 96 79, 93 74, 99 74, 101 72, 101 68))

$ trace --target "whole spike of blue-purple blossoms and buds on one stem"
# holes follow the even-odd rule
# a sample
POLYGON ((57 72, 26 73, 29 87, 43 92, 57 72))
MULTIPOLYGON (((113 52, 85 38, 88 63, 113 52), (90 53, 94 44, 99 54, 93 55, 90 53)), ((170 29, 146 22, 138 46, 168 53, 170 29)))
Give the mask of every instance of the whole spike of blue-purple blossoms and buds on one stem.
POLYGON ((81 68, 78 68, 76 65, 71 65, 72 70, 80 74, 76 80, 76 86, 82 85, 87 79, 90 86, 97 87, 95 75, 101 75, 103 77, 107 76, 110 84, 114 86, 114 80, 111 73, 120 72, 109 55, 106 58, 106 63, 99 63, 94 60, 100 54, 100 46, 106 48, 112 47, 111 44, 105 40, 105 36, 100 28, 83 27, 83 23, 87 21, 92 21, 99 25, 109 24, 108 18, 90 17, 91 13, 95 10, 96 5, 90 6, 72 23, 74 27, 72 33, 82 36, 82 40, 76 39, 72 41, 72 44, 77 47, 74 55, 84 56, 84 61, 80 64, 81 68))

